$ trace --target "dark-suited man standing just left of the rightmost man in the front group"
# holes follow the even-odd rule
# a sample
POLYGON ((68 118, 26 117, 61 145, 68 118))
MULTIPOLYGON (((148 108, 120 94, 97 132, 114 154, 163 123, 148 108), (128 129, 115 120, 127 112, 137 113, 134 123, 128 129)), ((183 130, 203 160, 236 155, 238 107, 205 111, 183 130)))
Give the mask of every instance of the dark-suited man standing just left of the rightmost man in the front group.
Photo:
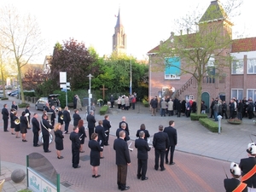
POLYGON ((158 170, 159 167, 159 157, 160 157, 160 169, 161 172, 165 171, 164 158, 166 150, 169 147, 169 139, 166 132, 163 132, 163 125, 159 125, 159 132, 154 133, 153 146, 154 146, 154 169, 158 170))

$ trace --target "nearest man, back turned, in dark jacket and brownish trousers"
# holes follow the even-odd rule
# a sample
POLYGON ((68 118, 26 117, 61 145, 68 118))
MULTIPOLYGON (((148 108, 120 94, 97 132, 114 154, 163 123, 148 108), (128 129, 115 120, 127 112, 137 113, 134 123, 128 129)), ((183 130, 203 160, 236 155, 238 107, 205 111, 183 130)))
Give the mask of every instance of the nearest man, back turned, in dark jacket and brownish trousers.
POLYGON ((126 186, 127 166, 131 164, 128 145, 125 142, 125 131, 119 132, 119 138, 113 142, 113 149, 115 150, 115 163, 118 168, 117 184, 120 190, 128 190, 126 186))

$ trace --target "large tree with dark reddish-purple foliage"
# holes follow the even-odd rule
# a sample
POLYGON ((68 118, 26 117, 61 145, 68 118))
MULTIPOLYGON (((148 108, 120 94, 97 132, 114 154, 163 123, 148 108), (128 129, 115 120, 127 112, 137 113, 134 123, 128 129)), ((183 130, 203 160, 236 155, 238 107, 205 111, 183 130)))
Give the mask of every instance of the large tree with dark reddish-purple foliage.
MULTIPOLYGON (((67 81, 70 82, 72 90, 84 88, 88 82, 87 75, 97 71, 95 55, 90 55, 84 43, 70 38, 63 41, 63 45, 55 44, 54 54, 49 61, 50 79, 59 82, 60 72, 67 72, 67 81)), ((55 84, 55 89, 59 89, 59 84, 55 84)))

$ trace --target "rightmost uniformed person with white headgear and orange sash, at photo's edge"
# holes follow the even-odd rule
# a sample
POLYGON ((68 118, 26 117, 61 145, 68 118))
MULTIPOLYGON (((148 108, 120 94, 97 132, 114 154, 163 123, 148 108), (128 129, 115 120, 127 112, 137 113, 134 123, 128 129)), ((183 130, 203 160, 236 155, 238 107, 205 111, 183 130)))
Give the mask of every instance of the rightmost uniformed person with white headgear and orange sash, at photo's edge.
POLYGON ((247 183, 248 191, 256 191, 256 146, 249 143, 247 147, 248 157, 240 160, 242 172, 241 182, 247 183))

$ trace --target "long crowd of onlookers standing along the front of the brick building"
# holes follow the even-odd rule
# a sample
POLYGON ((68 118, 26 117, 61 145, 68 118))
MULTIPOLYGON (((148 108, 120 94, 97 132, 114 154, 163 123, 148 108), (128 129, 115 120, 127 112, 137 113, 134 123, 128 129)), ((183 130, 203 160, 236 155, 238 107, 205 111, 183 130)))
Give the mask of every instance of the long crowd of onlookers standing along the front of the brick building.
MULTIPOLYGON (((150 101, 151 115, 155 116, 157 111, 160 110, 160 116, 173 116, 177 117, 186 116, 189 117, 190 113, 195 113, 197 108, 197 103, 193 99, 189 100, 178 100, 177 98, 171 99, 170 96, 164 96, 163 98, 158 98, 154 96, 150 101)), ((219 97, 212 98, 210 106, 207 106, 205 101, 201 101, 201 113, 206 113, 207 108, 210 109, 210 117, 215 121, 218 121, 218 115, 221 115, 225 119, 253 119, 256 111, 256 102, 253 102, 252 97, 246 99, 244 97, 242 100, 237 100, 233 97, 229 103, 226 103, 219 97), (254 110, 253 110, 254 109, 254 110)))

